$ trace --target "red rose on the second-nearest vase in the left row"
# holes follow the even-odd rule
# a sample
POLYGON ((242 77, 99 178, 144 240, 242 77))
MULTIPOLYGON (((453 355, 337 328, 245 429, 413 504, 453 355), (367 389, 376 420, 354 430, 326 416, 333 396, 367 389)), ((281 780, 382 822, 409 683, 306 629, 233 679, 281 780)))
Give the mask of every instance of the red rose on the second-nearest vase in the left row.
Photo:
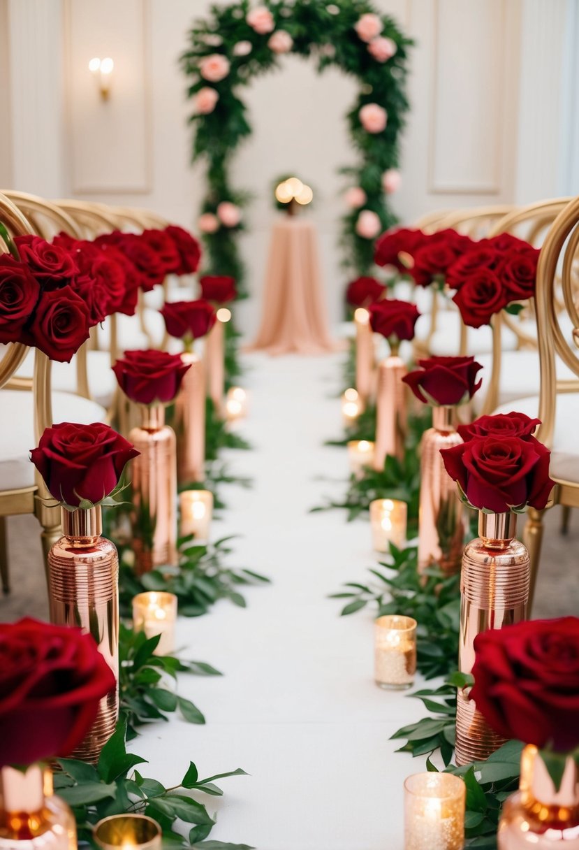
POLYGON ((82 499, 97 504, 119 483, 126 462, 138 451, 103 422, 60 422, 45 428, 31 461, 52 496, 70 507, 82 499))

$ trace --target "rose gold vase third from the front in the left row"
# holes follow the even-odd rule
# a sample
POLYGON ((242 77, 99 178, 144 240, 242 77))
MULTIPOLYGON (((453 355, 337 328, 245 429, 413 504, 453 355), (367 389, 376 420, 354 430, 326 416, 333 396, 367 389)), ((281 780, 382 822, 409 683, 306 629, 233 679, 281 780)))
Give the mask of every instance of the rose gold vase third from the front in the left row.
POLYGON ((142 416, 141 427, 128 437, 140 451, 130 472, 137 575, 177 564, 177 441, 162 405, 142 405, 142 416))

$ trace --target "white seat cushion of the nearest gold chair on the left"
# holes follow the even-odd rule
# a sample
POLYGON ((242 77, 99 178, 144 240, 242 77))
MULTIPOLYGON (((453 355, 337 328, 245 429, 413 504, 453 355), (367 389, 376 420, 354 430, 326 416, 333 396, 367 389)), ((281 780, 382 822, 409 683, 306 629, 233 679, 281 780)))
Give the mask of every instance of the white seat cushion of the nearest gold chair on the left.
MULTIPOLYGON (((26 390, 0 390, 0 490, 19 490, 34 484, 29 460, 34 448, 32 394, 26 390)), ((104 422, 106 411, 94 401, 71 393, 53 393, 54 422, 104 422)))

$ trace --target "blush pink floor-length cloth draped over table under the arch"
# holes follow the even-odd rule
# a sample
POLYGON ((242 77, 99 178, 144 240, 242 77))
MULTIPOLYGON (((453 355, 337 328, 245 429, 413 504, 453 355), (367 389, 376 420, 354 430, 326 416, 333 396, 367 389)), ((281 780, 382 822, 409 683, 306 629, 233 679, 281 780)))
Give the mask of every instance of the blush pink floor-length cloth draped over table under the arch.
POLYGON ((260 330, 247 350, 321 354, 335 348, 323 301, 316 229, 300 218, 280 219, 273 227, 260 330))

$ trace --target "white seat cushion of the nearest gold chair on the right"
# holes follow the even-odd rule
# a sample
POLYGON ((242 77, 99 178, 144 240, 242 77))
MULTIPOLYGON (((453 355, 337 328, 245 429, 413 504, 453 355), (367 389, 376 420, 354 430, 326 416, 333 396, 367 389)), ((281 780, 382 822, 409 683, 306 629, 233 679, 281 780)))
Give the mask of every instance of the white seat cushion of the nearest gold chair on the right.
MULTIPOLYGON (((518 411, 527 416, 537 416, 539 411, 538 395, 517 399, 508 405, 501 405, 495 413, 518 411)), ((557 396, 555 433, 551 446, 551 477, 560 481, 573 481, 579 484, 579 441, 577 426, 579 421, 579 393, 561 393, 557 396)))

